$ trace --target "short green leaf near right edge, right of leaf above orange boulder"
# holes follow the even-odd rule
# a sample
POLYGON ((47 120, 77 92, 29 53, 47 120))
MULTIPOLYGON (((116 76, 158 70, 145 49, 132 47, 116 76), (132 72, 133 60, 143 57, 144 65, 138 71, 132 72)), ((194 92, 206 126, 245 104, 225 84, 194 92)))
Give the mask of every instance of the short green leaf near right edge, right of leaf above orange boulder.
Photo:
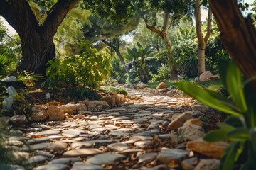
POLYGON ((235 140, 247 140, 249 138, 249 130, 245 128, 236 128, 227 133, 227 137, 235 140))

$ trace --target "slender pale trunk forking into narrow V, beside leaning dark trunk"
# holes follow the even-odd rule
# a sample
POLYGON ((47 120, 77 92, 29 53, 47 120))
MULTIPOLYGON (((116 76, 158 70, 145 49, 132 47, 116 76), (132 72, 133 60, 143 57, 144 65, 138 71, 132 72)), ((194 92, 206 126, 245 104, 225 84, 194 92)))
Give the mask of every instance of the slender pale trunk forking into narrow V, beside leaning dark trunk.
POLYGON ((202 21, 201 21, 201 5, 203 0, 196 0, 196 35, 198 38, 198 73, 201 74, 206 72, 206 43, 210 38, 211 28, 212 28, 212 11, 208 9, 208 18, 207 18, 207 32, 203 36, 202 33, 202 21))

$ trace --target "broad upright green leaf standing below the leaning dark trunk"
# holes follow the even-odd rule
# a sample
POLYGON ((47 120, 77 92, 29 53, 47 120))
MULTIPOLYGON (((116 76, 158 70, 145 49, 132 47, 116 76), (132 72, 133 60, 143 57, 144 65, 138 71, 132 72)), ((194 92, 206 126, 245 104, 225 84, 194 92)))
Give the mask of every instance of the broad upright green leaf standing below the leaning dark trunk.
POLYGON ((225 79, 228 92, 235 106, 237 106, 242 113, 245 113, 247 111, 247 105, 242 87, 242 72, 240 72, 240 69, 238 69, 234 62, 228 66, 225 79))

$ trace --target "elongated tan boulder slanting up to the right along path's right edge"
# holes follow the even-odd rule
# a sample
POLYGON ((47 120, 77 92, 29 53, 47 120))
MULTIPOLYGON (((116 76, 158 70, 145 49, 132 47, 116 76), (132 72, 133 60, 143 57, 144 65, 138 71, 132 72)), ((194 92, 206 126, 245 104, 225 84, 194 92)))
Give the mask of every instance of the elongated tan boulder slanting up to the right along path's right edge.
POLYGON ((177 118, 174 120, 171 120, 171 123, 168 125, 168 130, 178 130, 183 123, 186 122, 188 119, 193 119, 192 113, 191 112, 184 112, 181 115, 179 115, 177 118))

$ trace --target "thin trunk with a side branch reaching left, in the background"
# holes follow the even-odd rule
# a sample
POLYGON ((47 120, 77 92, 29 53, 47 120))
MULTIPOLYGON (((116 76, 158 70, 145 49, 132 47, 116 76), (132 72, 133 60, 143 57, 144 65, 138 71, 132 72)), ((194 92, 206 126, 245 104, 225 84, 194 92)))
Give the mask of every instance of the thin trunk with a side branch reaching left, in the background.
POLYGON ((162 30, 157 30, 154 27, 151 27, 149 25, 146 25, 146 28, 149 30, 154 31, 155 33, 159 34, 161 38, 164 40, 164 44, 166 45, 166 50, 167 50, 167 62, 169 64, 169 68, 171 69, 171 79, 178 79, 178 72, 176 70, 176 67, 174 65, 174 55, 171 49, 171 40, 169 39, 168 36, 168 26, 169 26, 169 20, 170 20, 170 13, 167 11, 164 12, 164 24, 163 24, 163 29, 162 30))

